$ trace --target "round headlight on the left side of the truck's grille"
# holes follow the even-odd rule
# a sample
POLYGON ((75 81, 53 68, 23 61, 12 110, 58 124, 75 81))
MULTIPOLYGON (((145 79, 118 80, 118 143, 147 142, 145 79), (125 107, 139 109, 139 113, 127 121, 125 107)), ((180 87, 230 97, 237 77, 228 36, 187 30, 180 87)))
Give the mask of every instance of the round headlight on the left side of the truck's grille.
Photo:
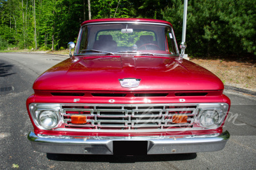
POLYGON ((58 115, 55 111, 41 111, 38 115, 39 124, 47 129, 54 128, 58 124, 58 115))

